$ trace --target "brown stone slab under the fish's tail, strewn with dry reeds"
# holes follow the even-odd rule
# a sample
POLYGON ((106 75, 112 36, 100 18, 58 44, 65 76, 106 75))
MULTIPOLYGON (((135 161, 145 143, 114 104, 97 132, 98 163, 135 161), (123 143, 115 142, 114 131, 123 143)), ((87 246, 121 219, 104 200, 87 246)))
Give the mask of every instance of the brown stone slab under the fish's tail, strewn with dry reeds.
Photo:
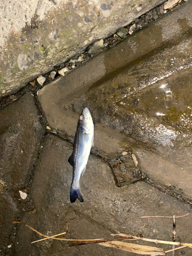
MULTIPOLYGON (((33 211, 28 211, 22 222, 43 234, 54 235, 66 230, 65 238, 111 238, 111 233, 139 234, 151 239, 172 239, 172 219, 137 219, 141 216, 172 216, 191 213, 191 207, 179 202, 153 186, 143 182, 131 187, 118 188, 108 163, 90 155, 87 170, 80 180, 84 203, 70 203, 69 191, 72 167, 68 158, 72 145, 53 135, 43 145, 30 197, 33 211), (42 182, 44 180, 44 182, 42 182), (101 189, 102 188, 102 189, 101 189), (51 220, 51 221, 50 221, 51 220)), ((190 242, 192 215, 177 219, 177 240, 190 242)), ((13 246, 13 255, 129 255, 117 249, 96 244, 68 247, 71 242, 47 240, 38 244, 32 241, 39 236, 20 225, 13 246)), ((152 246, 151 244, 148 244, 152 246)), ((171 246, 155 245, 164 249, 171 246)), ((191 250, 185 249, 189 256, 191 250)), ((130 254, 137 255, 137 254, 130 254)), ((178 254, 179 255, 179 254, 178 254)))

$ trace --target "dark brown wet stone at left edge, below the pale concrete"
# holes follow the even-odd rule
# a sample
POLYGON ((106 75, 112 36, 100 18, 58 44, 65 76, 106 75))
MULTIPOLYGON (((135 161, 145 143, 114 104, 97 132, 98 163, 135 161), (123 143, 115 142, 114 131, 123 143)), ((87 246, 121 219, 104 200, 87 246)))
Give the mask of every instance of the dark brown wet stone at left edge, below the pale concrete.
MULTIPOLYGON (((23 207, 19 190, 30 183, 43 134, 32 95, 26 94, 0 111, 1 255, 6 255, 12 221, 23 207)), ((24 201, 29 203, 29 198, 24 201)))

